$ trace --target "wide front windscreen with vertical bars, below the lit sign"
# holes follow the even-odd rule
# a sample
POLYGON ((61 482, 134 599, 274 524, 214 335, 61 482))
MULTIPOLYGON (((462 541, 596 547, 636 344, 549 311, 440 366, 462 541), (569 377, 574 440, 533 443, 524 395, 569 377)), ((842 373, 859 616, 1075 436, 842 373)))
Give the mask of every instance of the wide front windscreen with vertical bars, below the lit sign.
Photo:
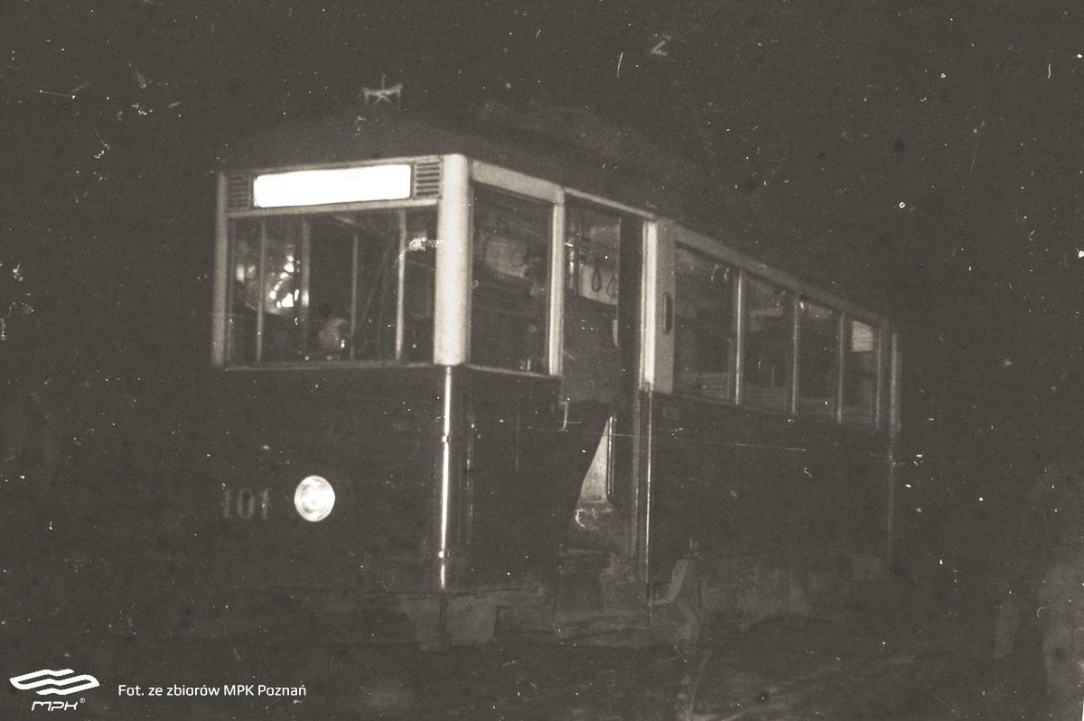
POLYGON ((436 214, 245 219, 232 224, 232 363, 427 360, 436 214))

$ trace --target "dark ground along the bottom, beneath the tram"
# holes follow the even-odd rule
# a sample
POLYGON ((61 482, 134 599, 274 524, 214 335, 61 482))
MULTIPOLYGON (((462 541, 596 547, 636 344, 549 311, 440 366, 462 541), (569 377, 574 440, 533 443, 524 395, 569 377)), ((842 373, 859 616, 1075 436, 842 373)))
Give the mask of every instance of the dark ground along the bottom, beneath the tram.
MULTIPOLYGON (((996 667, 985 660, 981 631, 952 615, 921 624, 776 619, 686 650, 498 642, 421 653, 138 635, 47 640, 42 628, 39 648, 48 643, 101 679, 80 709, 89 719, 1045 718, 1040 667, 996 667), (124 696, 119 683, 302 683, 305 695, 124 696)), ((9 650, 26 647, 17 629, 2 633, 9 650)))

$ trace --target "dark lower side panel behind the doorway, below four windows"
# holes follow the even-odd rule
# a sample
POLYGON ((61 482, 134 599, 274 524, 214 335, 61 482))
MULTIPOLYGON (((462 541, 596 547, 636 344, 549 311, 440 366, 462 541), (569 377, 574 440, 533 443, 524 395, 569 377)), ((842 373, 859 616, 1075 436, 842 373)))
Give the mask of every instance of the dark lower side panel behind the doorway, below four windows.
POLYGON ((695 555, 706 609, 747 628, 833 613, 881 571, 885 435, 681 396, 654 407, 653 582, 695 555))

